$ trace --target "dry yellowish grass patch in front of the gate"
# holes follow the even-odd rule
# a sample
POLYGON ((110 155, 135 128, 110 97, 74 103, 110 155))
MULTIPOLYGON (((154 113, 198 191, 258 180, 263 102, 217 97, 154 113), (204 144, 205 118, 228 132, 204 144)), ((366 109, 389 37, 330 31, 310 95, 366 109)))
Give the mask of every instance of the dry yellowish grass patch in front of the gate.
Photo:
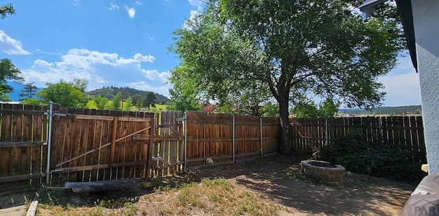
POLYGON ((44 191, 38 215, 275 215, 282 208, 268 195, 224 178, 183 184, 161 178, 151 185, 152 189, 143 188, 144 194, 134 198, 44 191))

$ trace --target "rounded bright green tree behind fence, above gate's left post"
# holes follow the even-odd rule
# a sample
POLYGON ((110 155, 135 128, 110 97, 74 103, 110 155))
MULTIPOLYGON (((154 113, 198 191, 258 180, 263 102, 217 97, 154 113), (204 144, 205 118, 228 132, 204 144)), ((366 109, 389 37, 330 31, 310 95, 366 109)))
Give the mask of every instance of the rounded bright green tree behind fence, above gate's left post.
POLYGON ((61 80, 59 83, 47 83, 46 87, 36 96, 41 98, 42 102, 48 104, 50 101, 59 103, 62 107, 86 107, 87 100, 84 93, 73 83, 61 80))

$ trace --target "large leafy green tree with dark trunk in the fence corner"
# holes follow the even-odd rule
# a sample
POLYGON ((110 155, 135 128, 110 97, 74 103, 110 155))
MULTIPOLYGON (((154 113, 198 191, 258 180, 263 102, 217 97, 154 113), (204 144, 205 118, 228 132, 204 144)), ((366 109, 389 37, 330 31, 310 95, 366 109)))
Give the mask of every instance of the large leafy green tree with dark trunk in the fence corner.
POLYGON ((291 154, 291 99, 379 105, 384 92, 377 77, 396 64, 399 32, 394 19, 362 22, 351 1, 218 0, 176 30, 171 51, 185 68, 179 76, 210 100, 239 98, 255 83, 267 89, 279 105, 281 152, 291 154))

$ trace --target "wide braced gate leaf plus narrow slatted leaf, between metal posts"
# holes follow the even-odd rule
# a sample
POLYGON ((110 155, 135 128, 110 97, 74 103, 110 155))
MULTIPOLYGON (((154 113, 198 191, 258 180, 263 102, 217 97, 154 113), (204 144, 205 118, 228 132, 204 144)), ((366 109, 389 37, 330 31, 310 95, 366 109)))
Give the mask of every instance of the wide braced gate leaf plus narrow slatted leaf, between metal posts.
POLYGON ((182 112, 62 108, 52 123, 51 185, 182 170, 182 112))

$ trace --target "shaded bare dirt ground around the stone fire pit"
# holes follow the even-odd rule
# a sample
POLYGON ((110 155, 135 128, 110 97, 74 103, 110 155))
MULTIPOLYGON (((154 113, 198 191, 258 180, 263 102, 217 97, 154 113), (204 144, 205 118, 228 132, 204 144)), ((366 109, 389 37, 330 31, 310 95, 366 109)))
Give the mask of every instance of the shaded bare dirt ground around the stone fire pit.
POLYGON ((300 157, 274 157, 199 170, 270 195, 291 215, 399 215, 416 185, 348 173, 345 185, 300 178, 300 157), (299 177, 298 177, 299 176, 299 177))

